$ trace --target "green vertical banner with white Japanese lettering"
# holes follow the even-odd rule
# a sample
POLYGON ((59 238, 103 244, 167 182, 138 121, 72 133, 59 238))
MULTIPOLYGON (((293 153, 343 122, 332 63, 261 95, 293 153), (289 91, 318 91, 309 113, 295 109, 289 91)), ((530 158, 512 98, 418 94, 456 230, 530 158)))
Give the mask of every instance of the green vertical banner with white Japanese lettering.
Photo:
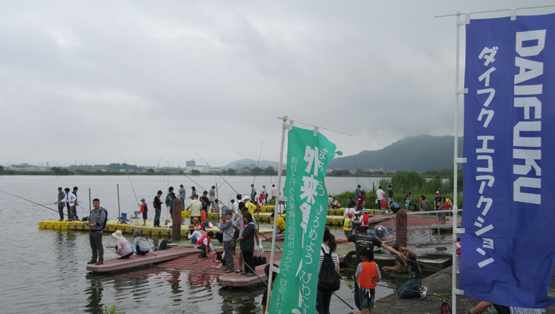
POLYGON ((293 127, 288 133, 287 228, 270 313, 316 312, 320 247, 328 213, 324 178, 335 149, 313 130, 293 127))

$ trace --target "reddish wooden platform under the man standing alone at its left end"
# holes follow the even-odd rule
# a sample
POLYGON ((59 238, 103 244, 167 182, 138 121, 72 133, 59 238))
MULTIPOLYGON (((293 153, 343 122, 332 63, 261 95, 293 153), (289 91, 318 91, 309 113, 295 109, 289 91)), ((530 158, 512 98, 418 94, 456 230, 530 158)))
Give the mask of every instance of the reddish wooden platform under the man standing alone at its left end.
MULTIPOLYGON (((187 255, 194 255, 198 250, 193 247, 179 246, 163 251, 151 252, 145 256, 132 255, 129 259, 107 259, 102 265, 87 265, 87 270, 95 273, 130 269, 138 266, 170 261, 187 255)), ((196 256, 196 255, 195 255, 196 256)))

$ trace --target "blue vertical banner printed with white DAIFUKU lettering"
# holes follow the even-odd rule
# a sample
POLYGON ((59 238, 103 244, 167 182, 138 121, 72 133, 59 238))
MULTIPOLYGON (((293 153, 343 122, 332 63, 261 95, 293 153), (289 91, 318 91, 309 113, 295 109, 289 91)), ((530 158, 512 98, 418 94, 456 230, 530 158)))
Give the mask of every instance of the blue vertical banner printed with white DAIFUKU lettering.
POLYGON ((466 26, 464 294, 546 308, 555 267, 555 15, 466 26))

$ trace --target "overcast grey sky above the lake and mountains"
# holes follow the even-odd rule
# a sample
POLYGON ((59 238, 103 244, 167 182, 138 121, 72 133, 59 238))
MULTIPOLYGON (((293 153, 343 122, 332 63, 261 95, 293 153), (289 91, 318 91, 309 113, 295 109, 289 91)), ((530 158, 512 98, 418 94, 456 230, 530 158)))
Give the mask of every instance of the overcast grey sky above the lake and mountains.
POLYGON ((345 155, 452 135, 455 17, 434 16, 549 4, 3 1, 0 164, 277 161, 283 114, 352 133, 322 131, 345 155))

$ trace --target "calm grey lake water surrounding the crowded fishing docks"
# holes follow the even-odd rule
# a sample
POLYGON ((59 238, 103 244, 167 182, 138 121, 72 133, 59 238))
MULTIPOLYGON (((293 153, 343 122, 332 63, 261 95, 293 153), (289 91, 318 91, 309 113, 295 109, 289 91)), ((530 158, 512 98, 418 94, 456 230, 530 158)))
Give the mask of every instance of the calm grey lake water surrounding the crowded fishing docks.
MULTIPOLYGON (((110 219, 121 212, 137 210, 136 198, 152 200, 156 191, 167 191, 168 186, 178 189, 196 186, 202 192, 218 185, 219 198, 228 199, 241 192, 249 194, 252 177, 225 178, 197 176, 0 176, 0 190, 16 194, 56 210, 57 188, 79 187, 79 217, 88 215, 89 189, 92 198, 99 198, 101 206, 109 211, 110 219), (193 183, 192 180, 195 181, 193 183), (136 195, 136 197, 135 197, 136 195)), ((372 187, 379 178, 327 178, 328 192, 332 194, 354 190, 357 184, 372 187), (358 183, 357 183, 358 182, 358 183)), ((257 177, 258 191, 266 184, 268 191, 276 177, 257 177)), ((277 185, 277 184, 276 184, 277 185)), ((104 306, 116 305, 131 313, 257 313, 264 285, 247 289, 228 289, 218 284, 217 277, 188 271, 172 271, 158 267, 143 268, 111 275, 94 275, 86 271, 90 260, 87 232, 40 230, 39 221, 57 220, 57 212, 0 192, 0 215, 3 218, 3 237, 6 244, 0 254, 0 299, 2 313, 102 313, 104 306)), ((149 221, 152 221, 150 217, 149 221)), ((262 225, 264 226, 264 225, 262 225)), ((342 234, 338 227, 333 228, 342 234)), ((409 235, 410 236, 410 235, 409 235)), ((428 237, 418 231, 416 237, 428 237)), ((127 236, 131 239, 130 236, 127 236)), ((152 247, 158 247, 160 238, 149 238, 152 247)), ((115 243, 109 233, 104 244, 115 243)), ((105 258, 115 253, 105 251, 105 258)), ((337 294, 354 307, 352 270, 342 271, 346 278, 337 294)), ((386 277, 378 287, 377 299, 394 292, 405 278, 386 277)), ((350 309, 333 298, 332 313, 348 313, 350 309)))

